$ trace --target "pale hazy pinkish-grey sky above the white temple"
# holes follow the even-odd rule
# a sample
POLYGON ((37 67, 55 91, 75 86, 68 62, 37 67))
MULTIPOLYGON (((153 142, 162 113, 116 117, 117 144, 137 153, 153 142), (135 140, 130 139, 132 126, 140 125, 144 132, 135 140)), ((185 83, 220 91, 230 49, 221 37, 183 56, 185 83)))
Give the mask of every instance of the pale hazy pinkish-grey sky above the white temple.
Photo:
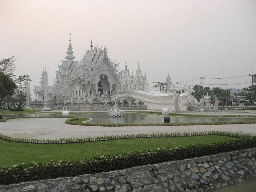
POLYGON ((75 60, 92 39, 107 45, 119 70, 127 61, 135 73, 139 62, 149 87, 165 82, 168 71, 173 83, 201 84, 203 76, 203 86, 223 89, 225 81, 209 78, 242 88, 256 73, 255 0, 0 0, 0 59, 16 56, 16 74, 30 75, 31 92, 43 65, 54 82, 69 32, 75 60))

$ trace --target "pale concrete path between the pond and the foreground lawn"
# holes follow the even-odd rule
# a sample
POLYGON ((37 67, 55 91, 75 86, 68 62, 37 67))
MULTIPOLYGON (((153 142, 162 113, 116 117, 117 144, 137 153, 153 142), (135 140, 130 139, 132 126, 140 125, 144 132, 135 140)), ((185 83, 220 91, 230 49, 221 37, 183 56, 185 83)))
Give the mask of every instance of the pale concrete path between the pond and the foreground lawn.
POLYGON ((153 132, 201 132, 208 130, 256 134, 256 124, 206 125, 206 126, 149 126, 100 127, 76 126, 65 123, 66 118, 9 119, 0 123, 0 133, 9 137, 57 139, 96 137, 114 134, 153 132))

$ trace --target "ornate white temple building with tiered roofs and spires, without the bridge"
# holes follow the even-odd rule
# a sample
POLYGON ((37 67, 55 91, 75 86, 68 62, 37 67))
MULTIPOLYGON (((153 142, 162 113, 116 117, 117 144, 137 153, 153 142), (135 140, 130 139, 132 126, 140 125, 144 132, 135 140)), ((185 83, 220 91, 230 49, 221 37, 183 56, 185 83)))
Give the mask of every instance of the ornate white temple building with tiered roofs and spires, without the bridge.
POLYGON ((146 90, 146 74, 142 73, 139 63, 135 75, 125 69, 118 71, 119 64, 112 62, 107 55, 107 47, 93 47, 86 51, 80 62, 75 61, 71 38, 68 55, 58 66, 56 80, 48 86, 48 73, 43 69, 40 86, 34 86, 37 101, 46 99, 80 99, 89 97, 110 97, 118 91, 146 90), (47 86, 46 86, 47 79, 47 86), (47 96, 46 96, 47 95, 47 96))

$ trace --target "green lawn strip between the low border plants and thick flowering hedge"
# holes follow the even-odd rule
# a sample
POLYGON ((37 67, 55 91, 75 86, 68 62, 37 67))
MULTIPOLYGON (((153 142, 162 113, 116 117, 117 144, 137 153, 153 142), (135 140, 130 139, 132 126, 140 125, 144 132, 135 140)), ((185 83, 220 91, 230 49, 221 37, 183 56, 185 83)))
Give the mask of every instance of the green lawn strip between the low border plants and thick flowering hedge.
POLYGON ((18 163, 76 160, 93 156, 142 151, 171 146, 208 144, 239 139, 220 135, 174 138, 119 139, 73 144, 31 144, 0 139, 0 167, 18 163))

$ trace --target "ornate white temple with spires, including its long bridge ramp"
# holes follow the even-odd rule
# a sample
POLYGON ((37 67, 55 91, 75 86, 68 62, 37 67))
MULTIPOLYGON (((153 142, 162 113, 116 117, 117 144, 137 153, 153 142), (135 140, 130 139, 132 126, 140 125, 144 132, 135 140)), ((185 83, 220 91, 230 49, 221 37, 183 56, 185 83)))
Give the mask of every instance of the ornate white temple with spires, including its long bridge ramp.
POLYGON ((43 68, 40 86, 34 86, 35 102, 50 101, 51 108, 64 106, 71 110, 107 110, 114 103, 122 109, 169 108, 172 111, 188 110, 188 105, 198 108, 199 103, 191 95, 191 88, 184 87, 185 93, 176 94, 170 75, 166 78, 167 93, 148 90, 146 74, 142 73, 139 63, 135 75, 130 73, 127 63, 118 71, 118 63, 111 62, 107 47, 93 47, 86 51, 80 62, 74 61, 71 38, 68 55, 58 66, 56 81, 48 86, 48 73, 43 68), (176 104, 175 104, 176 102, 176 104))

